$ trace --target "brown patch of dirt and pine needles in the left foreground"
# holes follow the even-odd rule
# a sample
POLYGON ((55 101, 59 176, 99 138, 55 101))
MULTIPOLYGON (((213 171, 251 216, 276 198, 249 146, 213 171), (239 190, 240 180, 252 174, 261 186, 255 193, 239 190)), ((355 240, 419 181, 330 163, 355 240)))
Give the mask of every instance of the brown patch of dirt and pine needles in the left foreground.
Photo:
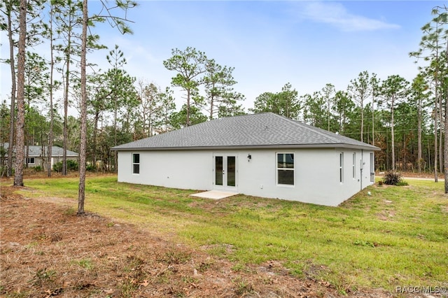
POLYGON ((241 267, 163 232, 77 216, 64 199, 29 199, 2 184, 1 297, 394 296, 336 288, 313 277, 318 267, 309 266, 304 278, 275 260, 241 267))

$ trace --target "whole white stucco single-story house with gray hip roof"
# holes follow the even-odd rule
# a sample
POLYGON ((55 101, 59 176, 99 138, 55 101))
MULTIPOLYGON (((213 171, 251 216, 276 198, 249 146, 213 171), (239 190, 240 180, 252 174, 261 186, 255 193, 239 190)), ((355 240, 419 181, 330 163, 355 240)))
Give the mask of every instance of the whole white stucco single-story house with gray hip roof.
POLYGON ((220 118, 112 148, 118 181, 337 206, 374 183, 375 146, 274 113, 220 118))

